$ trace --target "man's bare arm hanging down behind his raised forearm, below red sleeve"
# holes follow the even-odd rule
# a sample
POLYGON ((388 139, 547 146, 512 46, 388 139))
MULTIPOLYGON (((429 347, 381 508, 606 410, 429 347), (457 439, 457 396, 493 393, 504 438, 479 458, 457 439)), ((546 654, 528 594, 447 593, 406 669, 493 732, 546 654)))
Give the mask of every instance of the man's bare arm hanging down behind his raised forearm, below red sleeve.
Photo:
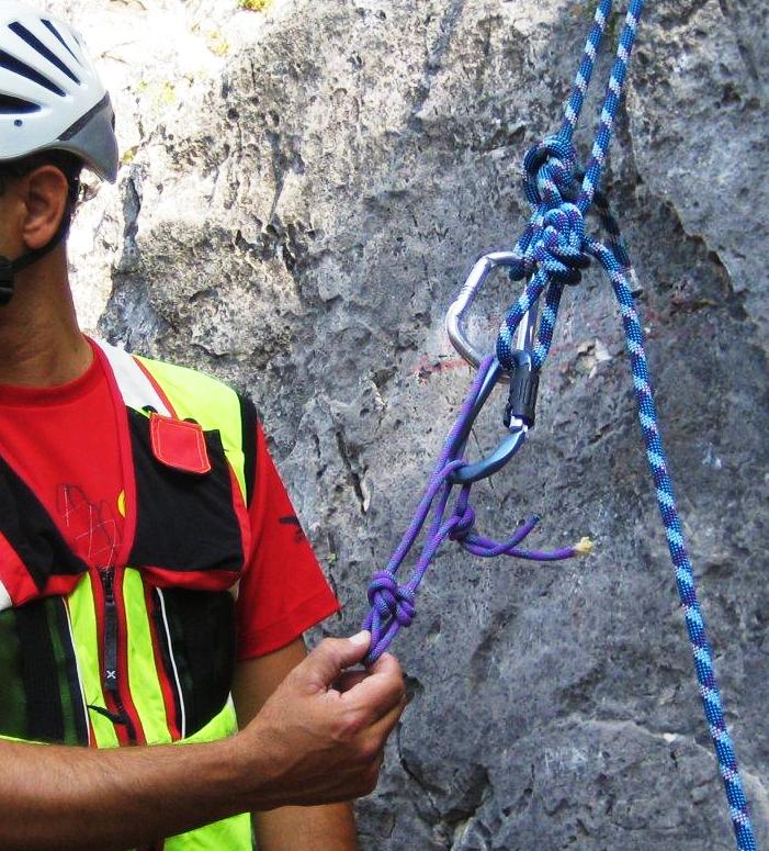
MULTIPOLYGON (((257 717, 289 672, 306 657, 302 638, 258 659, 238 665, 235 675, 235 708, 240 727, 257 717)), ((352 805, 282 807, 253 814, 259 851, 358 851, 352 805)))

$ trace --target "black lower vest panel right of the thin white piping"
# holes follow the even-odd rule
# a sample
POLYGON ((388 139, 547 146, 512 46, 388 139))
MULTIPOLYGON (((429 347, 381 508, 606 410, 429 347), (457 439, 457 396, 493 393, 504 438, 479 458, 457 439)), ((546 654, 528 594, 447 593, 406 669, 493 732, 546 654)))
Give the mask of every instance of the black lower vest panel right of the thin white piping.
MULTIPOLYGON (((235 600, 228 591, 188 589, 163 589, 163 600, 192 736, 222 712, 233 687, 235 600)), ((159 638, 165 645, 165 632, 159 638)))

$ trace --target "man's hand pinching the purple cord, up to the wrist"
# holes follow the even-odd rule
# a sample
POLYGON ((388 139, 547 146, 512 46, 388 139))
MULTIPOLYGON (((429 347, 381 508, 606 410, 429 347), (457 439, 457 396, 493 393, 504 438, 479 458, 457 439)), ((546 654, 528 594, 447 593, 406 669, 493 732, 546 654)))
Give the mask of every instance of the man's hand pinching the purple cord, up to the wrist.
POLYGON ((360 632, 323 641, 233 741, 242 768, 258 772, 252 808, 348 800, 376 786, 406 698, 400 667, 387 653, 367 672, 347 670, 365 657, 369 640, 360 632))

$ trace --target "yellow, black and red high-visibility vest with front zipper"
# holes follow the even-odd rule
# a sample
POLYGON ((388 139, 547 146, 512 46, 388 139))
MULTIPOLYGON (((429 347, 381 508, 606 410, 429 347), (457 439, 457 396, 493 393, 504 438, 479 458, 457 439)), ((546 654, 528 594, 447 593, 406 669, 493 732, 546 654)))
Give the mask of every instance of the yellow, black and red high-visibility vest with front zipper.
MULTIPOLYGON (((104 343, 99 354, 134 471, 121 500, 129 555, 88 570, 29 493, 26 519, 0 519, 0 736, 98 748, 220 739, 237 729, 256 411, 194 370, 104 343)), ((5 490, 12 499, 14 482, 5 490)), ((163 848, 250 851, 250 816, 163 848)))

